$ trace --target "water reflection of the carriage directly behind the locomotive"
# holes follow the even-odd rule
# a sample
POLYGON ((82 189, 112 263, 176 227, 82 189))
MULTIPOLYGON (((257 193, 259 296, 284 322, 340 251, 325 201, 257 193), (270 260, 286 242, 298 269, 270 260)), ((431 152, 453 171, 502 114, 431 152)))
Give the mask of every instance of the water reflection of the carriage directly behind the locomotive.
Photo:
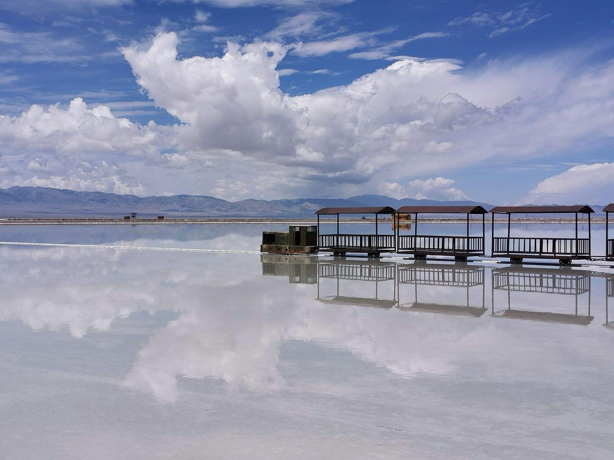
MULTIPOLYGON (((332 260, 319 261, 317 300, 332 305, 362 305, 365 307, 391 309, 397 304, 396 289, 397 264, 383 261, 355 261, 355 260, 332 260), (335 293, 325 297, 321 296, 321 280, 336 280, 335 293), (373 297, 352 296, 341 294, 341 281, 370 282, 373 284, 373 297), (384 289, 389 289, 392 282, 392 299, 381 298, 380 284, 384 283, 384 289)), ((345 287, 345 286, 343 286, 345 287)))

